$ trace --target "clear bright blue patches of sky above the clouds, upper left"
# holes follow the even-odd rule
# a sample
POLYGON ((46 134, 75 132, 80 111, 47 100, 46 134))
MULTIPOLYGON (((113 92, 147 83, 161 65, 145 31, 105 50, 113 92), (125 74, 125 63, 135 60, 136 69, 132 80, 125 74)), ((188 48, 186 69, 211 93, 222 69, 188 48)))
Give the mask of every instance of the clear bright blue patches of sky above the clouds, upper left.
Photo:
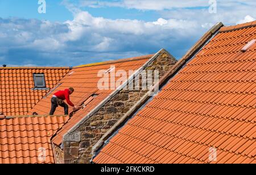
MULTIPOLYGON (((79 1, 70 1, 78 3, 79 1)), ((115 1, 108 1, 115 2, 115 1)), ((46 0, 47 13, 38 13, 38 0, 1 0, 0 1, 0 16, 2 18, 9 18, 17 16, 19 18, 36 18, 40 20, 50 20, 52 22, 65 20, 72 20, 72 13, 63 5, 62 0, 46 0)), ((90 12, 94 17, 101 17, 109 19, 139 19, 150 21, 152 19, 160 18, 160 14, 154 10, 141 11, 137 9, 125 9, 120 7, 81 7, 82 10, 90 12)))

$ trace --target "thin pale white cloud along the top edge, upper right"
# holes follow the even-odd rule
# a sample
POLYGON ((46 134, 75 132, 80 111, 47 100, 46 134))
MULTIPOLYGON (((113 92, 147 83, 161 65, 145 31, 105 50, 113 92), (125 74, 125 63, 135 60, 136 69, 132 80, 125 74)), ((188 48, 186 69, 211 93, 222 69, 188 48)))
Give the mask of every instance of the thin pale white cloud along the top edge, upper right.
MULTIPOLYGON (((67 0, 66 0, 67 1, 67 0)), ((117 0, 117 1, 87 1, 80 0, 79 7, 121 7, 137 10, 155 10, 160 14, 160 19, 187 20, 199 23, 205 28, 209 24, 223 22, 233 25, 256 18, 255 0, 221 0, 216 1, 217 13, 209 12, 209 1, 205 0, 117 0), (249 15, 251 18, 245 16, 249 15), (242 20, 243 19, 243 20, 242 20)), ((160 24, 159 22, 156 22, 160 24)), ((162 24, 164 25, 164 24, 162 24)))

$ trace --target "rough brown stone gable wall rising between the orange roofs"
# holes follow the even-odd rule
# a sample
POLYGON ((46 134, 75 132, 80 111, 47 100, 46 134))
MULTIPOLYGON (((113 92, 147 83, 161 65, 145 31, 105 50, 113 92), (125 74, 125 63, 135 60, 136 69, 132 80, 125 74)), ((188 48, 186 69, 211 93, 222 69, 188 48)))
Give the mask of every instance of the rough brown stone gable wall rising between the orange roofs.
MULTIPOLYGON (((176 60, 171 55, 162 52, 145 70, 159 70, 159 77, 162 77, 175 63, 176 60)), ((139 82, 142 82, 141 78, 141 76, 137 78, 139 82)), ((136 90, 127 90, 126 88, 120 90, 76 129, 76 132, 80 133, 80 141, 65 141, 64 139, 64 156, 58 153, 59 161, 57 163, 61 162, 60 159, 64 159, 64 163, 71 164, 90 163, 93 156, 93 145, 147 92, 148 90, 142 89, 141 84, 136 90)), ((59 151, 59 149, 57 150, 59 151)))

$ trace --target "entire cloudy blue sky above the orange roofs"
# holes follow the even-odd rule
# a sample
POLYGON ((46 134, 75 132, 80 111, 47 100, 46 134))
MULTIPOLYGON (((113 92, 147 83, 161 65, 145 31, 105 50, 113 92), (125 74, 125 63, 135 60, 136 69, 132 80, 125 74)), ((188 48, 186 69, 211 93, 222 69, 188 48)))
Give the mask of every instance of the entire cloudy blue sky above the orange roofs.
POLYGON ((180 59, 213 24, 256 18, 250 0, 46 0, 46 14, 38 7, 0 0, 1 64, 75 66, 161 48, 180 59))

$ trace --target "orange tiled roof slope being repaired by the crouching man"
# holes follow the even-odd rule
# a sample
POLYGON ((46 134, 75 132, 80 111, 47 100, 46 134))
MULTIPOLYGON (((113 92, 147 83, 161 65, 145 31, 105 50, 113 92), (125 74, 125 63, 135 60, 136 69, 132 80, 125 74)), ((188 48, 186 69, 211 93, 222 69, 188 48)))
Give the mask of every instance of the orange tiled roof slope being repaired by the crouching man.
MULTIPOLYGON (((106 64, 96 64, 92 66, 82 66, 79 68, 72 69, 72 72, 67 74, 60 81, 60 86, 58 86, 53 93, 57 90, 63 90, 68 87, 74 87, 75 92, 71 95, 71 101, 79 106, 86 101, 94 93, 97 94, 97 97, 86 105, 84 109, 77 111, 72 118, 68 121, 67 124, 60 131, 57 132, 57 135, 52 139, 53 143, 60 145, 62 143, 63 135, 71 129, 77 122, 79 122, 86 114, 89 113, 94 107, 96 107, 101 101, 108 97, 114 90, 99 90, 97 87, 98 81, 101 77, 98 77, 97 74, 100 70, 108 70, 110 66, 115 66, 115 72, 118 70, 137 70, 141 68, 153 55, 134 57, 132 59, 117 60, 106 62, 106 64)), ((128 73, 127 73, 128 74, 128 73)), ((118 79, 118 77, 116 77, 118 79)), ((30 114, 36 111, 38 114, 48 114, 51 110, 51 97, 52 94, 49 94, 46 98, 42 99, 35 107, 30 111, 30 114)), ((70 107, 70 106, 69 106, 70 107)), ((70 107, 69 112, 72 111, 70 107)), ((63 114, 63 107, 58 107, 55 114, 63 114)))

